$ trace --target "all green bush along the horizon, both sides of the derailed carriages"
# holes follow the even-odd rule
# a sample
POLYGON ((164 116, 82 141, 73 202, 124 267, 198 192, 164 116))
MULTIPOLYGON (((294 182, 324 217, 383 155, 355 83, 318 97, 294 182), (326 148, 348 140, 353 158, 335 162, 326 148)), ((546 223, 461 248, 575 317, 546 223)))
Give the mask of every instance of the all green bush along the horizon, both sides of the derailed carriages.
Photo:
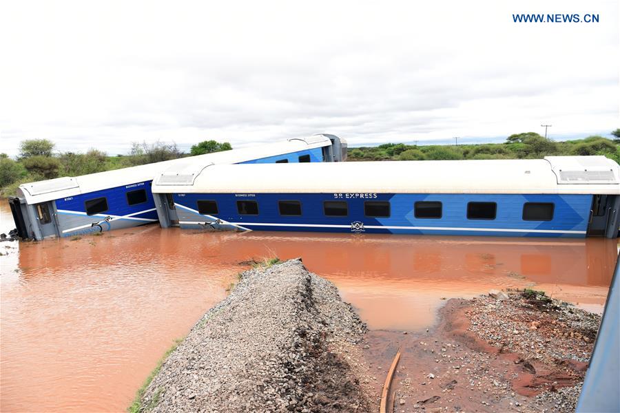
MULTIPOLYGON (((349 160, 458 160, 458 159, 532 159, 548 155, 603 155, 620 163, 620 129, 612 132, 613 140, 590 136, 580 140, 555 142, 535 132, 508 136, 504 143, 482 145, 404 145, 386 143, 378 147, 349 148, 349 160)), ((98 149, 86 153, 56 152, 54 142, 47 139, 24 140, 17 160, 0 153, 0 193, 14 195, 25 182, 79 176, 87 173, 134 167, 152 162, 202 155, 232 149, 228 142, 205 140, 183 153, 176 144, 147 142, 132 144, 127 155, 107 156, 98 149)))

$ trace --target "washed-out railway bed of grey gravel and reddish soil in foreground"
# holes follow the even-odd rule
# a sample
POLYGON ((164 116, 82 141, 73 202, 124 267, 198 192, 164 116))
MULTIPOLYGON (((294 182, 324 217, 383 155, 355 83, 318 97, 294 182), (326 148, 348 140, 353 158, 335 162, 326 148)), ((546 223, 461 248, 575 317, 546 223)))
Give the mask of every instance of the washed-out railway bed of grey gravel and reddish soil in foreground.
POLYGON ((387 412, 574 410, 600 317, 535 291, 492 294, 449 300, 426 332, 368 331, 301 260, 258 267, 196 323, 134 410, 377 412, 382 394, 387 412))

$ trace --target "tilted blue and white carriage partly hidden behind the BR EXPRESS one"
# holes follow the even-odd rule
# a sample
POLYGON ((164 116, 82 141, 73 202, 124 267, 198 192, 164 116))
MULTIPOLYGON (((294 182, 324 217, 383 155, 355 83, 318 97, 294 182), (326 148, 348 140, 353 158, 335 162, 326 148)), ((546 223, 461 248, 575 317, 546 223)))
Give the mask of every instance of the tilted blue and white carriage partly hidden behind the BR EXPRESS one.
POLYGON ((346 158, 347 143, 333 135, 289 139, 149 165, 22 184, 10 206, 22 239, 66 237, 158 220, 152 180, 168 169, 194 165, 330 162, 346 158), (343 153, 345 154, 343 157, 343 153))

